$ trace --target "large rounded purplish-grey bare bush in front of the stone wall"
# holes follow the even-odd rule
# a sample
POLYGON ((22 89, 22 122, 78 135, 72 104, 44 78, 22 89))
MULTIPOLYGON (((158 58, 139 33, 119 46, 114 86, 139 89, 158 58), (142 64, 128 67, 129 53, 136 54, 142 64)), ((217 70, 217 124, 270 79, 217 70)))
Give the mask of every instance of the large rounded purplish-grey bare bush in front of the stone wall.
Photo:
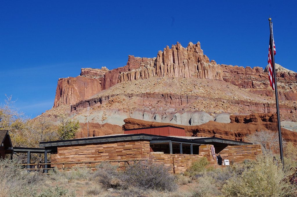
POLYGON ((175 177, 168 170, 163 163, 151 159, 135 162, 129 165, 122 175, 124 187, 174 191, 177 184, 175 177))

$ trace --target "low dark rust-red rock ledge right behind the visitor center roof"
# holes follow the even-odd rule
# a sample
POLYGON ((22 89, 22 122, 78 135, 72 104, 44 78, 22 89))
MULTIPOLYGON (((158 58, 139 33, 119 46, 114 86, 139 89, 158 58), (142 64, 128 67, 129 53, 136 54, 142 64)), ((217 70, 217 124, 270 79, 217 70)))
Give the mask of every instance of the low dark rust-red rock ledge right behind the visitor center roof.
MULTIPOLYGON (((256 131, 271 130, 278 132, 276 114, 251 114, 246 116, 232 115, 230 116, 230 119, 231 123, 209 121, 198 126, 183 126, 127 118, 124 120, 125 124, 123 125, 123 130, 171 125, 184 128, 187 136, 220 137, 239 141, 244 141, 247 135, 253 134, 256 131)), ((297 132, 282 128, 282 137, 286 141, 291 141, 297 145, 297 132)))

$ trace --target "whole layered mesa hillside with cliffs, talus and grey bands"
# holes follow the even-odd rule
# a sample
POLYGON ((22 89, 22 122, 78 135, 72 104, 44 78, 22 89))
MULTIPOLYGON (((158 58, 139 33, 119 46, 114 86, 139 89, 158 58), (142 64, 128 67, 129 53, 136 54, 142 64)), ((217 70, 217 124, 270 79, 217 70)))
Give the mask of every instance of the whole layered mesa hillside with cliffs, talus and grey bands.
MULTIPOLYGON (((282 126, 295 131, 297 74, 276 68, 282 126)), ((266 69, 219 65, 199 42, 167 46, 155 58, 129 56, 124 67, 113 70, 82 68, 80 76, 59 79, 54 107, 42 116, 57 121, 67 113, 80 122, 78 137, 85 137, 88 106, 94 136, 122 133, 126 118, 197 126, 228 124, 230 115, 276 112, 266 69)))

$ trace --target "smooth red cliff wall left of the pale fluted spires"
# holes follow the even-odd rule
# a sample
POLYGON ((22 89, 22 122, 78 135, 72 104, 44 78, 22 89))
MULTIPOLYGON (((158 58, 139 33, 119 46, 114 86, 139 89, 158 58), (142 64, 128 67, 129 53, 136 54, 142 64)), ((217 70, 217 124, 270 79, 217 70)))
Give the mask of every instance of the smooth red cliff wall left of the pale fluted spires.
POLYGON ((101 69, 82 68, 80 76, 59 79, 53 107, 75 104, 86 100, 101 90, 116 85, 122 72, 137 69, 143 62, 152 60, 153 58, 140 58, 129 55, 127 65, 124 67, 113 70, 108 70, 106 67, 101 69))

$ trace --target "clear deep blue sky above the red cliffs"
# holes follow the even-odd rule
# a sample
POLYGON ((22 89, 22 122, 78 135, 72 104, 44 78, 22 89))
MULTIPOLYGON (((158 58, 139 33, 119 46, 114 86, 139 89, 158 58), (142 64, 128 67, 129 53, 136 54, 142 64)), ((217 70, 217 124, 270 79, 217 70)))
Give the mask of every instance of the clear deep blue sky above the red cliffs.
POLYGON ((0 102, 6 93, 32 118, 53 106, 59 78, 80 68, 124 66, 166 45, 200 41, 219 64, 267 65, 268 17, 275 60, 296 68, 295 1, 0 0, 0 102))

